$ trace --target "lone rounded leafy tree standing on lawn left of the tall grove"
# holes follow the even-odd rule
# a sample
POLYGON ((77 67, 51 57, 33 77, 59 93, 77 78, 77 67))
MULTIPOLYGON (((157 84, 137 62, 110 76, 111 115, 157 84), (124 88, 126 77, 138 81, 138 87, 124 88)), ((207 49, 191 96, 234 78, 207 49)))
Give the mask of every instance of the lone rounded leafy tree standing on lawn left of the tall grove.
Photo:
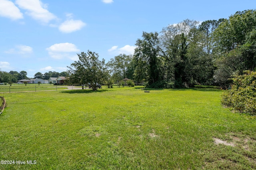
POLYGON ((78 57, 78 61, 68 66, 68 80, 81 85, 90 83, 92 90, 97 90, 98 84, 105 82, 108 75, 105 60, 100 61, 99 55, 89 50, 87 53, 78 54, 78 57))

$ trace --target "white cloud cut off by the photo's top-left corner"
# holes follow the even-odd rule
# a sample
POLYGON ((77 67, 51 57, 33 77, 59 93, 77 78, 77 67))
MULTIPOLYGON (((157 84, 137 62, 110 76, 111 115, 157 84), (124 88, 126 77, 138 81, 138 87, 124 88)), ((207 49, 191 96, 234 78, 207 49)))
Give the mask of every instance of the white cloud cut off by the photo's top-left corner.
POLYGON ((18 20, 23 18, 23 14, 12 1, 0 0, 0 4, 0 16, 10 18, 12 20, 18 20))

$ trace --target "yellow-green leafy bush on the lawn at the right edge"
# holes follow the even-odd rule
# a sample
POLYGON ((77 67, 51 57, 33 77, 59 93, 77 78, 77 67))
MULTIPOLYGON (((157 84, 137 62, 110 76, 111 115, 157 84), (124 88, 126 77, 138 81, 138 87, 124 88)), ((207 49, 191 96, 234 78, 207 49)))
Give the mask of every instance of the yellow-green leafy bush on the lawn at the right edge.
POLYGON ((245 71, 232 78, 231 89, 222 94, 222 104, 240 113, 256 115, 256 72, 245 71))

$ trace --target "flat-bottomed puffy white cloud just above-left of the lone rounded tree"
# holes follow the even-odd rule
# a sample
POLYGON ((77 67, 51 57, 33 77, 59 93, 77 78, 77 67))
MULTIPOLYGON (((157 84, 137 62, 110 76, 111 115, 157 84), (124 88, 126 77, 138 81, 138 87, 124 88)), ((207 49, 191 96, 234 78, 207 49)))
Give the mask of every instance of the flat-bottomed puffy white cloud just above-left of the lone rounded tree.
POLYGON ((71 60, 74 59, 74 52, 80 51, 80 49, 78 49, 76 45, 72 43, 54 44, 46 50, 48 51, 48 54, 54 59, 68 58, 71 60))

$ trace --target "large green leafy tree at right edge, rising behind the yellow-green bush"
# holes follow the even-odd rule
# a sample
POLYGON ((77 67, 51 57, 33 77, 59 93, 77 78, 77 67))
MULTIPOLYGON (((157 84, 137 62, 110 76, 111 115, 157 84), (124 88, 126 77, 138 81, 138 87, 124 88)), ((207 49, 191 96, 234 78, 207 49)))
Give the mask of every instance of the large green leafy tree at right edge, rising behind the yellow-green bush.
POLYGON ((254 70, 256 65, 255 46, 256 10, 236 12, 220 23, 214 31, 216 82, 228 86, 228 78, 254 70))

